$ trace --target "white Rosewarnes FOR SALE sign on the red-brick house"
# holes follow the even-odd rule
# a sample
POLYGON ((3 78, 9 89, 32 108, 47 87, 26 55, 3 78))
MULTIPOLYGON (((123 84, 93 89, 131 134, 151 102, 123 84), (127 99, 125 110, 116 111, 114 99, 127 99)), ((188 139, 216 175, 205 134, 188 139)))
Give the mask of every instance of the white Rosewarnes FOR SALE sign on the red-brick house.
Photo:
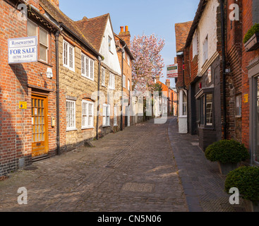
POLYGON ((37 36, 8 39, 8 64, 37 61, 37 36))

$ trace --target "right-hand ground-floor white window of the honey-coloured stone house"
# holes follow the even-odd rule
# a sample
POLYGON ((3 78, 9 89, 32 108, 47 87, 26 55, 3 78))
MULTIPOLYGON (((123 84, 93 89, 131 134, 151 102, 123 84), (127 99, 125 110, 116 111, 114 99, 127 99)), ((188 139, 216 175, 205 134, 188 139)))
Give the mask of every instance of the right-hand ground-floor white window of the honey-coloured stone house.
POLYGON ((92 128, 94 126, 94 103, 82 100, 82 128, 92 128))

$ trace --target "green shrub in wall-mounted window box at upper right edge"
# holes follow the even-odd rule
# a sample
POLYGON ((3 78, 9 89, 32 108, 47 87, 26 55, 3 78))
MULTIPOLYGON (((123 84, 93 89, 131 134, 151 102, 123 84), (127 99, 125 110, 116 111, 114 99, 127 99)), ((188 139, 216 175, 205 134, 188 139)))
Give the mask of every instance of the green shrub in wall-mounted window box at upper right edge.
POLYGON ((245 37, 243 38, 243 43, 246 48, 246 52, 253 51, 259 47, 259 23, 255 23, 252 28, 248 30, 245 37))

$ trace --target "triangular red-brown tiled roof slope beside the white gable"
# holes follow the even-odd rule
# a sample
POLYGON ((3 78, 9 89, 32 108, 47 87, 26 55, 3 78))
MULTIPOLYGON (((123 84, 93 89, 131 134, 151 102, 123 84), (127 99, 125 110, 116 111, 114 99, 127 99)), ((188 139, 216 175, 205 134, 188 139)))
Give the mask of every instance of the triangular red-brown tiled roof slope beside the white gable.
POLYGON ((100 51, 102 37, 104 35, 108 19, 109 13, 90 19, 84 17, 83 20, 75 21, 74 24, 80 29, 80 32, 88 38, 95 49, 100 51))

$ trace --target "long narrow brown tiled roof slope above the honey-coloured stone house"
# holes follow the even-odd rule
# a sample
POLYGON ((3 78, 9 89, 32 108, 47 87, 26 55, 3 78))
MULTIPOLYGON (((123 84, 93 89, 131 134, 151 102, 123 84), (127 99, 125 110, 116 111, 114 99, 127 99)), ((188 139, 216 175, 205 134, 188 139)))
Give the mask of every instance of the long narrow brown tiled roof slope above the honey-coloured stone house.
POLYGON ((81 40, 87 43, 88 47, 97 52, 97 50, 95 49, 95 47, 92 46, 88 38, 85 37, 83 33, 80 32, 79 28, 74 24, 75 22, 71 20, 71 18, 66 16, 66 14, 63 13, 58 7, 54 6, 54 4, 52 4, 48 0, 40 0, 40 6, 42 6, 44 11, 47 11, 47 13, 49 13, 49 15, 52 16, 52 18, 54 18, 54 20, 56 20, 58 23, 63 23, 66 26, 66 28, 73 32, 74 35, 78 36, 81 40))

